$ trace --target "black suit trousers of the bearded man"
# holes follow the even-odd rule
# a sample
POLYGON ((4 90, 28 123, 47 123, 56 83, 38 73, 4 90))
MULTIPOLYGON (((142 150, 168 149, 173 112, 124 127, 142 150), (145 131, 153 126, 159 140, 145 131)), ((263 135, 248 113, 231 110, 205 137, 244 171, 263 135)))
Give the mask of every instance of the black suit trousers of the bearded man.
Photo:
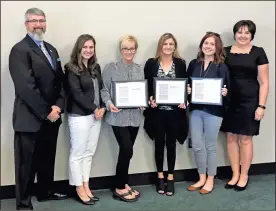
MULTIPOLYGON (((26 122, 26 124, 28 124, 26 122)), ((31 203, 35 175, 37 197, 50 194, 54 180, 55 155, 60 121, 44 121, 38 132, 15 132, 14 160, 16 205, 31 203)))

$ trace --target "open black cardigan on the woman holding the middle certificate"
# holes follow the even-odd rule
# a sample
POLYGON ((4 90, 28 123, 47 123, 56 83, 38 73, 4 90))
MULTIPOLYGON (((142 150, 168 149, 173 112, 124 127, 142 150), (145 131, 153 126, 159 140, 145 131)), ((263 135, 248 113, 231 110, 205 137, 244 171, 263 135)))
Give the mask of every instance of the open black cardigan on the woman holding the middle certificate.
MULTIPOLYGON (((186 63, 182 59, 173 58, 175 64, 175 75, 176 78, 187 78, 186 72, 186 63)), ((145 79, 148 80, 148 95, 153 96, 154 94, 154 82, 153 78, 157 77, 157 72, 159 68, 158 60, 155 58, 150 58, 144 68, 145 79)), ((175 119, 175 122, 171 123, 175 125, 175 133, 179 143, 183 144, 188 136, 188 117, 186 109, 180 109, 178 106, 173 106, 174 112, 178 112, 178 118, 175 119)), ((158 133, 155 128, 156 115, 158 114, 158 108, 147 108, 144 111, 145 122, 144 129, 148 136, 151 139, 155 138, 155 135, 158 133)))

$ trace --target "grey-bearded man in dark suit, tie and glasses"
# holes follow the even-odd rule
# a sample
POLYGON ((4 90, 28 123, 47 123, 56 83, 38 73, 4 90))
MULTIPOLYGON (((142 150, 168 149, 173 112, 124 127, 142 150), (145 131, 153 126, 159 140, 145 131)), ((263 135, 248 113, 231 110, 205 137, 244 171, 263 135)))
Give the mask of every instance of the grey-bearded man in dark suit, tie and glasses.
POLYGON ((37 175, 38 201, 65 199, 52 190, 61 113, 64 73, 57 50, 43 41, 42 10, 25 13, 26 37, 15 44, 9 69, 15 88, 13 110, 16 208, 33 209, 31 190, 37 175))

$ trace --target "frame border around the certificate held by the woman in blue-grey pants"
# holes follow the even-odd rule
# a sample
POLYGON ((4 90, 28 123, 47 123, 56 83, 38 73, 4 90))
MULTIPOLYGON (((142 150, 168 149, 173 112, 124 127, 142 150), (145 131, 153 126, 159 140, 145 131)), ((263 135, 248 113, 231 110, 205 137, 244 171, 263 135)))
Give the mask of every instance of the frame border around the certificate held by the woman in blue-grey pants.
POLYGON ((192 87, 192 93, 191 93, 191 103, 193 104, 205 104, 205 105, 219 105, 222 106, 223 105, 223 96, 221 94, 221 88, 223 88, 223 78, 200 78, 200 77, 191 77, 191 87, 192 87), (219 102, 218 103, 214 103, 211 101, 205 101, 205 102, 201 102, 198 100, 195 100, 193 98, 193 91, 194 91, 194 87, 193 87, 193 82, 194 81, 202 81, 202 80, 209 80, 209 81, 219 81, 220 84, 220 96, 219 96, 219 102))

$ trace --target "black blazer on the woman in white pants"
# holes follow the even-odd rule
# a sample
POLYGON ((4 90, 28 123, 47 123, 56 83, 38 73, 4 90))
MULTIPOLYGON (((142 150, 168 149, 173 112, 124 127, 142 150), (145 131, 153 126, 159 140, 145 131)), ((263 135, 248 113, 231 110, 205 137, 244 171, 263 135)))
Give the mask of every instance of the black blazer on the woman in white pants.
MULTIPOLYGON (((89 115, 94 112, 97 106, 94 104, 95 90, 93 80, 89 70, 81 72, 79 75, 69 70, 65 65, 65 76, 67 84, 67 112, 79 115, 89 115)), ((102 88, 101 68, 97 64, 95 67, 96 78, 99 85, 100 106, 104 107, 101 100, 100 90, 102 88)))

